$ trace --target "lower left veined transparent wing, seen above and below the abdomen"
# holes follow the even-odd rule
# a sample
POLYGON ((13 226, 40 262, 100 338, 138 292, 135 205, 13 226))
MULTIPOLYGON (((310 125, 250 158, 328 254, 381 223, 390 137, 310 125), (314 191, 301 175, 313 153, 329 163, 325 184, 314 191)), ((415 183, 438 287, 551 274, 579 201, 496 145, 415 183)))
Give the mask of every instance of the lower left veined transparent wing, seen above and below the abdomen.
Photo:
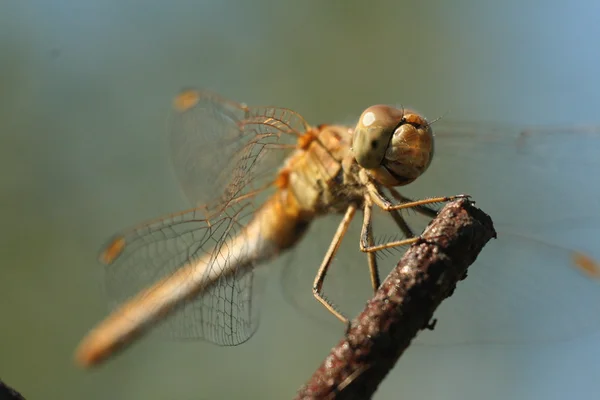
MULTIPOLYGON (((250 212, 251 207, 232 205, 221 215, 206 218, 205 210, 193 209, 117 236, 109 249, 119 243, 123 248, 114 261, 107 260, 111 262, 106 266, 110 298, 115 305, 123 303, 184 264, 210 256, 239 234, 250 212)), ((248 269, 240 268, 219 278, 199 298, 181 306, 168 318, 162 326, 164 333, 221 345, 247 340, 258 326, 253 285, 254 277, 248 269)))

